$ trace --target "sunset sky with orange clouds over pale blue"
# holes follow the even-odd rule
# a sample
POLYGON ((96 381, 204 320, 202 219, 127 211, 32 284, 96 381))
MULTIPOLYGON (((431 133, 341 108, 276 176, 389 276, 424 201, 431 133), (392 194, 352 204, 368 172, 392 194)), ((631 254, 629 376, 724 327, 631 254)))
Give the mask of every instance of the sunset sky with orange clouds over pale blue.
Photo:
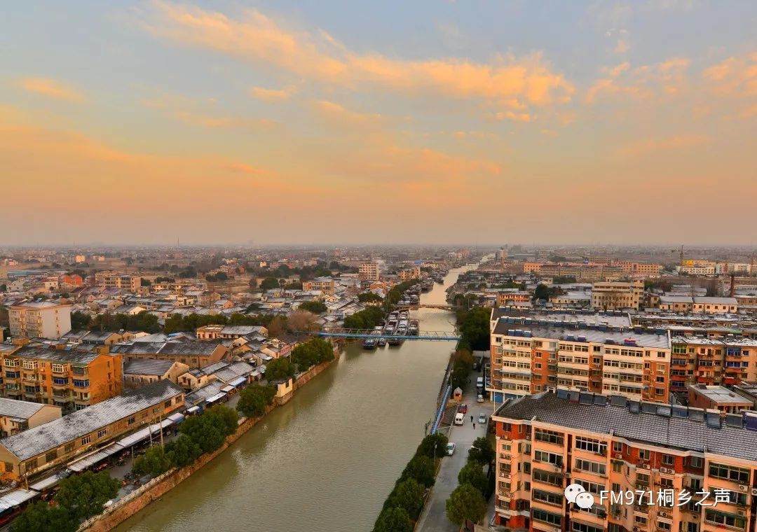
POLYGON ((0 246, 755 243, 757 3, 5 2, 0 246))

